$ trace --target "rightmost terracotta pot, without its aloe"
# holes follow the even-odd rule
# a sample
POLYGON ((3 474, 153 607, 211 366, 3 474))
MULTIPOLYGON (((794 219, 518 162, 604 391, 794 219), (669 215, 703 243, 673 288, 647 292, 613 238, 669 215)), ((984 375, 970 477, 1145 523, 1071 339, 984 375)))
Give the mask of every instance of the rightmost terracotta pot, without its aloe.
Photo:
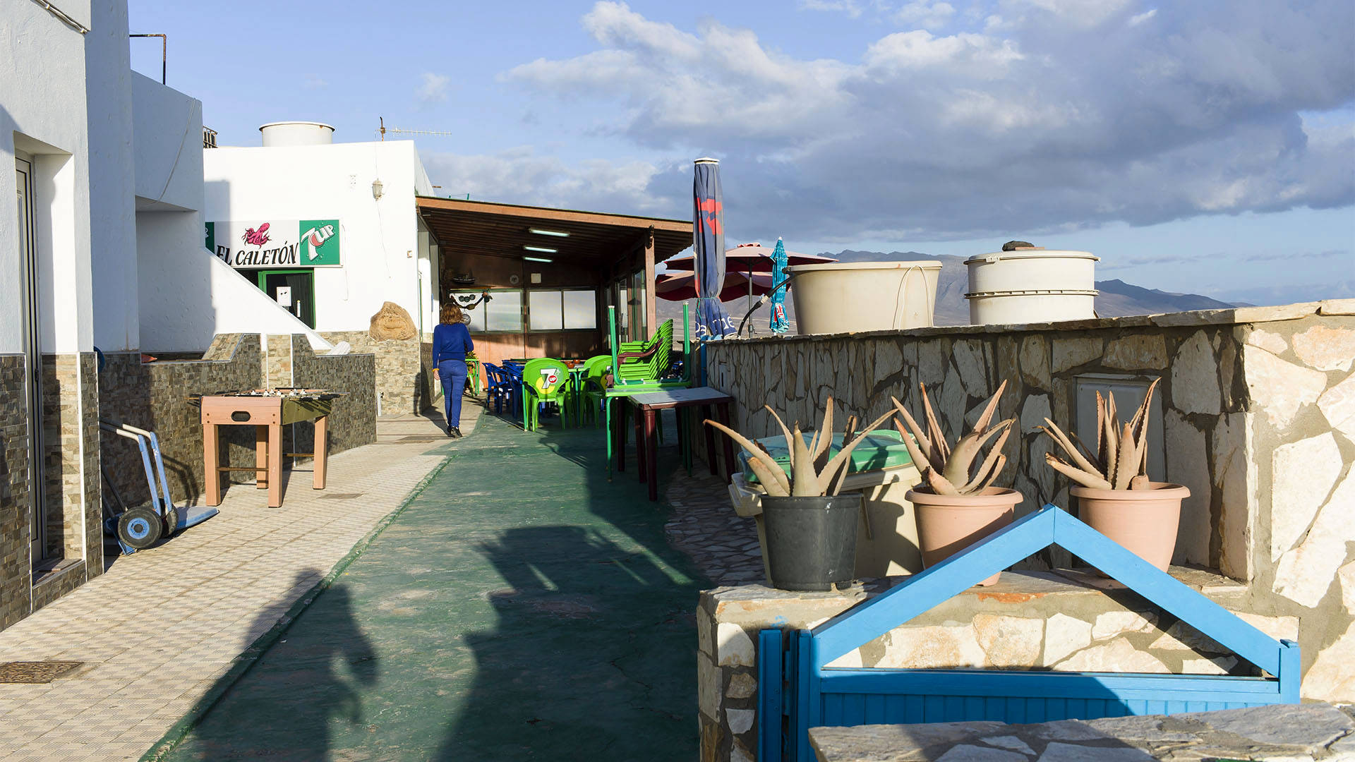
POLYGON ((1190 498, 1190 489, 1165 481, 1150 481, 1149 485, 1149 489, 1073 487, 1070 492, 1077 498, 1077 518, 1167 571, 1176 550, 1182 500, 1190 498))

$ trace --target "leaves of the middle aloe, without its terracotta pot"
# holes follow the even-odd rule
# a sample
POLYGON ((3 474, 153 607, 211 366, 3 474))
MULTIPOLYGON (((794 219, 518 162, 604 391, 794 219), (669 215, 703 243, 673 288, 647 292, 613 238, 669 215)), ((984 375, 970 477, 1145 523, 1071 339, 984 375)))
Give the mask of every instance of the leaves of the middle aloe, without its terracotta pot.
POLYGON ((912 456, 913 464, 923 469, 923 484, 919 489, 934 495, 977 495, 982 492, 993 484, 1003 466, 1007 465, 1007 456, 1001 450, 1007 435, 1011 434, 1012 424, 1016 423, 1015 418, 1009 418, 996 426, 989 426, 993 414, 997 412, 997 400, 1003 396, 1007 381, 1003 381, 997 386, 997 392, 988 399, 984 412, 974 422, 974 428, 961 437, 954 447, 946 443, 946 435, 942 433, 931 400, 927 397, 927 385, 919 384, 919 386, 923 390, 925 428, 908 414, 904 403, 890 397, 908 428, 900 426, 898 419, 894 419, 894 427, 904 435, 904 445, 908 446, 908 454, 912 456), (988 449, 988 456, 980 460, 984 445, 993 437, 997 441, 988 449), (976 461, 978 462, 977 469, 974 468, 976 461))

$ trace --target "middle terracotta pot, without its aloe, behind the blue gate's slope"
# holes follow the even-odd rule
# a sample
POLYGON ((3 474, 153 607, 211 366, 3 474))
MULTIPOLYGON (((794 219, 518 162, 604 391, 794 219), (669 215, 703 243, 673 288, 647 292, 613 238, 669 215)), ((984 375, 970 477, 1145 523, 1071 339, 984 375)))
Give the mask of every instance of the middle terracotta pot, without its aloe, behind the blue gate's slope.
MULTIPOLYGON (((917 511, 917 544, 927 568, 1011 523, 1022 495, 1005 487, 989 487, 978 495, 932 495, 909 489, 905 499, 917 511)), ((978 584, 986 587, 996 582, 995 574, 978 584)))

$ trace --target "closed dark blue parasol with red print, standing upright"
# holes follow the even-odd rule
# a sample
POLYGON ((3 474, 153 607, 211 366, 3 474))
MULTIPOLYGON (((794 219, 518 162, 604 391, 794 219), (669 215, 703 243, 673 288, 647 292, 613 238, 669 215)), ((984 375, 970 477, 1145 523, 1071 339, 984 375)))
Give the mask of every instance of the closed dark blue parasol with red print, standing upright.
POLYGON ((692 183, 692 251, 696 277, 696 338, 722 339, 736 327, 720 304, 725 285, 725 209, 720 161, 698 159, 692 183))

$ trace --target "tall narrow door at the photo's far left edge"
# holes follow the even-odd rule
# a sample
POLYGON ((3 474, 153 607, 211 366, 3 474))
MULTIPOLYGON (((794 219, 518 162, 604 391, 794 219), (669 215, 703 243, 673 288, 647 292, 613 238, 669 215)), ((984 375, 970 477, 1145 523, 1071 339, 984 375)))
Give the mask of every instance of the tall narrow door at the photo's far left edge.
POLYGON ((38 247, 33 225, 33 164, 15 159, 19 201, 20 302, 23 309, 24 404, 28 415, 28 538, 33 564, 46 557, 46 475, 42 468, 42 332, 38 323, 38 247))

